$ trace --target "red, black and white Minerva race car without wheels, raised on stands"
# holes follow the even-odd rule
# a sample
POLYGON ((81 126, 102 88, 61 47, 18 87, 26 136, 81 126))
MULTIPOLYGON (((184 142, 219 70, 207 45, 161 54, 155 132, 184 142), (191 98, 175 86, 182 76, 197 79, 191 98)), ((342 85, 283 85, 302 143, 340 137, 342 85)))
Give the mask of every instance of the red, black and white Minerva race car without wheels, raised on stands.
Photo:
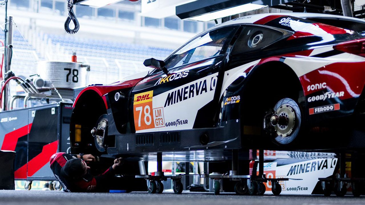
POLYGON ((78 94, 73 153, 365 147, 364 20, 245 16, 144 65, 78 94))

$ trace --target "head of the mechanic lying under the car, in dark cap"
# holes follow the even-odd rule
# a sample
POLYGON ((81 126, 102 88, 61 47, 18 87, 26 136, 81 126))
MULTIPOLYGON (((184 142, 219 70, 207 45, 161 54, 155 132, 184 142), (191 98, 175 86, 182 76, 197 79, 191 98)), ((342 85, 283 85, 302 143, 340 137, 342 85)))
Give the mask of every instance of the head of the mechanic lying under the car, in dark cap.
POLYGON ((83 177, 87 173, 88 169, 90 169, 90 167, 86 165, 84 160, 77 158, 68 160, 65 166, 62 167, 61 171, 63 171, 68 177, 77 179, 83 177))

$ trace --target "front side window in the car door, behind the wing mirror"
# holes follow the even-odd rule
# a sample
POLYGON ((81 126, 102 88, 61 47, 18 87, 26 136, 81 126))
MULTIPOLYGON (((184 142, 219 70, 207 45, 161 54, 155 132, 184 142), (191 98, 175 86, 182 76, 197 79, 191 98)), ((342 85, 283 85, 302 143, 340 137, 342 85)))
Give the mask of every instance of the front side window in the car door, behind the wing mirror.
POLYGON ((223 27, 193 39, 167 59, 166 68, 170 69, 219 55, 237 28, 237 26, 223 27))

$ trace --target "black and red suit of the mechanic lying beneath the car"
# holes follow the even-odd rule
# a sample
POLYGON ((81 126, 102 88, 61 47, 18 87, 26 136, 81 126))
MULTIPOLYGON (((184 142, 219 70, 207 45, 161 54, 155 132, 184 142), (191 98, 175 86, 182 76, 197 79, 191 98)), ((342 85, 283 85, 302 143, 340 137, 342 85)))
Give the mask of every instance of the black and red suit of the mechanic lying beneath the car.
POLYGON ((115 175, 115 171, 112 167, 107 169, 103 174, 93 176, 88 173, 80 179, 74 179, 68 177, 65 173, 61 172, 61 168, 65 166, 65 163, 73 158, 77 158, 77 155, 70 155, 64 152, 58 152, 51 156, 50 167, 54 176, 61 183, 64 192, 108 192, 108 183, 115 175))

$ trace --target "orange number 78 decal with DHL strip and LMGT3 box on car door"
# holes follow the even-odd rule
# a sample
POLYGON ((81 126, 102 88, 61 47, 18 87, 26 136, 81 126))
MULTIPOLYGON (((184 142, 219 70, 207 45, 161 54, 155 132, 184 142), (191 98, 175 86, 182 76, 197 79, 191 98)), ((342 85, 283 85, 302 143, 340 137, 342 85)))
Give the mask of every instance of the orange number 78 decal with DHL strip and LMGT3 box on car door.
POLYGON ((136 131, 165 127, 164 108, 153 109, 152 99, 153 90, 134 95, 133 116, 136 131))

